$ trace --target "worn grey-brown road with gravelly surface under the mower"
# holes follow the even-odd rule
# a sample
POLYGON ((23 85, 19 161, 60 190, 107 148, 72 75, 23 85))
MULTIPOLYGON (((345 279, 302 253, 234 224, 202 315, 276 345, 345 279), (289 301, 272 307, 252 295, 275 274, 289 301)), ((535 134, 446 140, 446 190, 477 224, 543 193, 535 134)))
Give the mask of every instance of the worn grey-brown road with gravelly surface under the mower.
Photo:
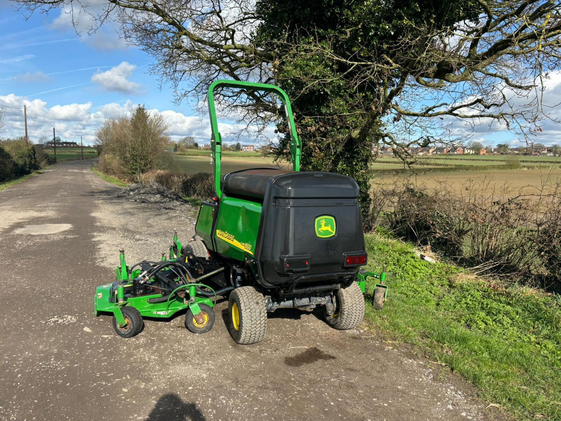
MULTIPOLYGON (((113 197, 91 161, 60 164, 0 192, 0 420, 482 420, 486 404, 426 359, 361 326, 335 331, 314 313, 269 315, 260 344, 237 345, 227 303, 213 330, 183 315, 124 339, 96 318, 96 285, 158 258, 190 206, 113 197)), ((392 305, 388 301, 387 305, 392 305)))

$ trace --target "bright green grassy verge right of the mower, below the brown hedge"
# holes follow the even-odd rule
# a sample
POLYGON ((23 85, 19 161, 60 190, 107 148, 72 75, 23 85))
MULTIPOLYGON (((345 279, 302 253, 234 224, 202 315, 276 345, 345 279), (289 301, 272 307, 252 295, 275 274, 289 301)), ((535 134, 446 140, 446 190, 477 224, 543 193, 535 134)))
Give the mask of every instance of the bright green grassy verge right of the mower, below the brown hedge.
POLYGON ((366 235, 366 248, 373 271, 386 267, 389 286, 381 312, 367 304, 368 321, 447 365, 517 419, 561 419, 558 296, 493 286, 379 235, 366 235))

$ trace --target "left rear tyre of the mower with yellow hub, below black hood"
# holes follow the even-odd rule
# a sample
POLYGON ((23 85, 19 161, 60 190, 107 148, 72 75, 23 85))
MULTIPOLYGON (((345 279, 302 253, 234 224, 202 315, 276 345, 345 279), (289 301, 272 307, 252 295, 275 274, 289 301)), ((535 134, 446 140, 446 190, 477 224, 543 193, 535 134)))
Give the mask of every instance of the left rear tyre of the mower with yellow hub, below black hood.
POLYGON ((265 297, 252 286, 233 290, 228 299, 230 335, 241 345, 256 344, 267 333, 265 297))

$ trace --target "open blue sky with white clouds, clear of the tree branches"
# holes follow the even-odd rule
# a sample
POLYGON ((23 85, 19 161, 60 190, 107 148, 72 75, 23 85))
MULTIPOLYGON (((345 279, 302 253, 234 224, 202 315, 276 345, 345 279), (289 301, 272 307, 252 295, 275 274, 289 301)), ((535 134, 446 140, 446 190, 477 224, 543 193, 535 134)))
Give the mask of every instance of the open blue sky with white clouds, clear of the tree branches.
MULTIPOLYGON (((24 135, 21 108, 26 104, 31 139, 52 137, 55 126, 63 139, 83 136, 89 144, 105 118, 145 104, 163 113, 173 139, 194 136, 199 143, 209 143, 208 116, 196 115, 192 103, 176 106, 171 86, 160 90, 158 77, 148 74, 151 58, 136 47, 127 47, 114 26, 105 25, 90 36, 85 31, 88 17, 78 16, 79 36, 70 15, 62 10, 35 13, 25 20, 26 12, 15 11, 11 4, 0 0, 0 106, 6 106, 6 126, 0 135, 24 135)), ((559 72, 551 73, 545 102, 561 102, 559 72)), ((551 113, 561 119, 558 107, 551 113)), ((557 123, 546 122, 543 129, 537 141, 561 143, 557 123)), ((226 143, 234 140, 235 123, 224 120, 220 132, 226 143)), ((473 129, 456 123, 454 135, 470 135, 484 145, 521 145, 518 136, 505 127, 489 130, 488 124, 473 129)))

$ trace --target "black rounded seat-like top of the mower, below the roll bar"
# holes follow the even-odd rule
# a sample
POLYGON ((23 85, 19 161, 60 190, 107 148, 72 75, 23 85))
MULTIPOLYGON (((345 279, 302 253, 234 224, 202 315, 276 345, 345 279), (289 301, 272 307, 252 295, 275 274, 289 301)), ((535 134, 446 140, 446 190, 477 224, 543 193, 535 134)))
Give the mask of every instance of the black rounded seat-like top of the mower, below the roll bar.
POLYGON ((257 199, 263 202, 267 183, 272 177, 294 171, 277 170, 275 168, 252 168, 226 174, 222 180, 223 190, 228 196, 242 199, 257 199))

